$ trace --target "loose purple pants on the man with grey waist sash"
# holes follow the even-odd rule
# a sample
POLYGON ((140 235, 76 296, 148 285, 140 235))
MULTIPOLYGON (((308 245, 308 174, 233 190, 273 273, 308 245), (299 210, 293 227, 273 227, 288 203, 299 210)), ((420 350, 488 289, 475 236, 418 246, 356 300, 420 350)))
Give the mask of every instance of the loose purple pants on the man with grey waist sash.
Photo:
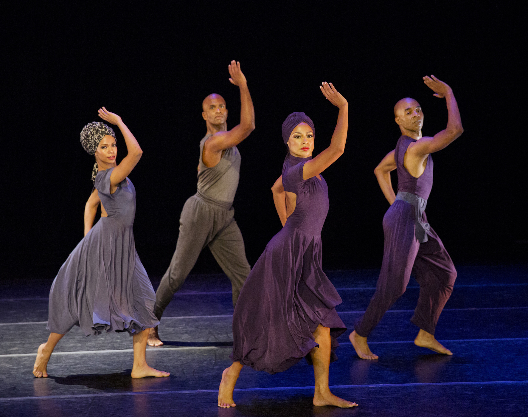
POLYGON ((413 205, 397 200, 383 217, 383 263, 369 307, 354 324, 360 336, 369 336, 385 311, 405 292, 411 272, 420 285, 418 304, 411 321, 427 333, 435 334, 440 313, 453 290, 457 271, 432 228, 427 232, 428 241, 418 242, 414 235, 414 216, 413 205))

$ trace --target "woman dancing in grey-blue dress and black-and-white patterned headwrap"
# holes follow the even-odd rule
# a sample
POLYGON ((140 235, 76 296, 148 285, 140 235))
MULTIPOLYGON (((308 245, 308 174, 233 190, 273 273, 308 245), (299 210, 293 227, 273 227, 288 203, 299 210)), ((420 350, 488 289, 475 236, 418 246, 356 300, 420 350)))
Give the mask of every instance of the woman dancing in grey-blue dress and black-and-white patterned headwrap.
POLYGON ((84 150, 95 155, 97 161, 92 172, 97 191, 92 193, 87 208, 100 201, 102 215, 91 228, 93 216, 87 222, 85 211, 86 235, 51 286, 47 327, 51 333, 37 352, 33 366, 37 378, 48 376, 46 365, 53 349, 73 326, 79 326, 86 336, 99 335, 103 330, 128 331, 134 343, 131 376, 169 375, 149 367, 145 359, 149 328, 159 321, 154 316, 154 289, 136 252, 132 230, 136 190, 127 178, 143 151, 118 115, 103 107, 99 117, 119 127, 128 153, 116 165, 116 135, 101 122, 89 123, 81 131, 84 150))

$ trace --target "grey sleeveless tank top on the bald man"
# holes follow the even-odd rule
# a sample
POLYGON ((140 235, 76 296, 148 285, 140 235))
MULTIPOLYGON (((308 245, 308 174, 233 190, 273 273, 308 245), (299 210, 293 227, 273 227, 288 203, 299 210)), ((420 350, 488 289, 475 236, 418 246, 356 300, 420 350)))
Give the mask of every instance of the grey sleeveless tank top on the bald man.
POLYGON ((212 135, 205 135, 200 140, 200 172, 198 173, 198 192, 213 200, 224 203, 233 203, 234 195, 237 193, 238 180, 240 178, 240 162, 242 157, 236 146, 225 149, 220 162, 208 168, 202 160, 203 145, 212 135))

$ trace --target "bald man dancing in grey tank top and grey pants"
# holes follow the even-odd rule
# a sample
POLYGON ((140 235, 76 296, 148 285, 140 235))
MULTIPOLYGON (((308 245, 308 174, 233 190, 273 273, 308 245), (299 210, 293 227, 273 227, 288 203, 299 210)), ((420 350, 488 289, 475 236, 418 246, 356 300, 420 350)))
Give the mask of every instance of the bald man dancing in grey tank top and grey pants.
MULTIPOLYGON (((231 280, 233 306, 251 269, 242 234, 233 219, 232 204, 237 192, 241 160, 237 145, 254 130, 255 112, 240 62, 231 61, 228 69, 231 75, 229 81, 240 88, 240 125, 228 131, 225 100, 219 94, 205 97, 202 117, 207 134, 200 141, 198 189, 183 206, 176 251, 156 291, 154 314, 158 320, 206 245, 231 280)), ((150 329, 148 344, 163 345, 157 326, 150 329)))

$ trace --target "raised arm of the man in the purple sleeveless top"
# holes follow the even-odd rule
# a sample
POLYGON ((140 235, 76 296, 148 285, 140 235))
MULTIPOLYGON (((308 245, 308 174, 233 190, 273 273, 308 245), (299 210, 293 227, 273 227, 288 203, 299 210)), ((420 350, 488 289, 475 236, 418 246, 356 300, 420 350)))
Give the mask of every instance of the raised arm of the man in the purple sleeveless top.
POLYGON ((447 126, 433 137, 423 137, 409 145, 407 152, 413 156, 426 156, 444 149, 452 141, 458 138, 463 132, 460 112, 453 90, 445 82, 440 81, 434 75, 423 77, 423 83, 435 92, 433 96, 446 98, 447 104, 447 126))

